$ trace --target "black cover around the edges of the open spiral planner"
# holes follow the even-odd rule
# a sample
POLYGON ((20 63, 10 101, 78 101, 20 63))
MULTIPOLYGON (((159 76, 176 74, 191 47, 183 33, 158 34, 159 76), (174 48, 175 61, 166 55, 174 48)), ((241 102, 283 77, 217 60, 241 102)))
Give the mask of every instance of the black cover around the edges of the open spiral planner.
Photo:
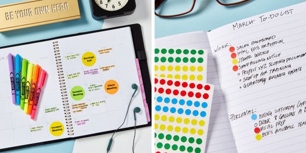
MULTIPOLYGON (((150 118, 151 118, 151 104, 152 104, 152 102, 151 102, 151 81, 150 81, 149 69, 148 69, 147 58, 146 58, 145 47, 144 47, 144 42, 143 42, 143 37, 142 37, 142 31, 141 31, 140 24, 123 25, 123 26, 120 26, 120 27, 114 27, 114 28, 109 28, 109 29, 102 29, 102 30, 84 32, 84 33, 60 36, 60 37, 55 37, 55 38, 49 38, 49 39, 44 39, 44 40, 14 44, 14 45, 0 47, 0 49, 13 47, 13 46, 18 46, 18 45, 25 45, 25 44, 54 40, 54 39, 60 39, 60 38, 67 38, 67 37, 85 35, 85 34, 90 34, 90 33, 101 32, 101 31, 114 30, 114 29, 119 29, 119 28, 124 28, 124 27, 130 27, 131 28, 135 55, 136 55, 136 58, 138 58, 138 60, 139 60, 139 65, 140 65, 142 81, 143 81, 143 85, 144 85, 146 101, 147 101, 147 104, 148 104, 149 114, 150 114, 150 118)), ((151 126, 151 122, 152 121, 148 122, 148 124, 145 124, 145 125, 138 125, 138 126, 136 126, 136 128, 151 126)), ((132 130, 132 129, 134 129, 134 126, 133 127, 122 128, 122 129, 119 129, 118 131, 126 131, 126 130, 132 130)), ((57 143, 57 142, 62 142, 62 141, 67 141, 67 140, 86 138, 86 137, 103 135, 103 134, 109 134, 109 133, 113 133, 114 131, 115 130, 107 131, 107 132, 101 132, 101 133, 95 133, 95 134, 90 134, 90 135, 84 135, 84 136, 79 136, 79 137, 73 137, 73 138, 58 139, 58 140, 53 140, 53 141, 45 141, 45 142, 40 142, 40 143, 34 143, 34 144, 27 144, 27 145, 21 145, 21 146, 16 146, 16 147, 4 148, 4 149, 0 149, 0 152, 8 151, 8 150, 14 150, 14 149, 20 149, 20 148, 26 148, 26 147, 32 147, 32 146, 38 146, 38 145, 43 145, 43 144, 57 143)))

